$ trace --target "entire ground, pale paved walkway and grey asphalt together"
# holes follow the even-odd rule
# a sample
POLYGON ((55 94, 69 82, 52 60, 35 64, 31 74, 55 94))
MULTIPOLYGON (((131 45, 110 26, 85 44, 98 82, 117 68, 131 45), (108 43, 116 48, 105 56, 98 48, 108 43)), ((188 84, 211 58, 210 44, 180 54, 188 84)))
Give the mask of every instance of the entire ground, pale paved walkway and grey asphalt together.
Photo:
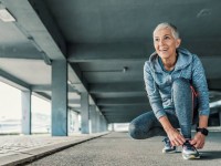
POLYGON ((160 136, 144 141, 131 139, 127 133, 0 136, 0 165, 29 162, 27 165, 31 166, 219 166, 221 128, 209 131, 201 159, 197 160, 183 160, 181 148, 175 154, 162 154, 160 136))

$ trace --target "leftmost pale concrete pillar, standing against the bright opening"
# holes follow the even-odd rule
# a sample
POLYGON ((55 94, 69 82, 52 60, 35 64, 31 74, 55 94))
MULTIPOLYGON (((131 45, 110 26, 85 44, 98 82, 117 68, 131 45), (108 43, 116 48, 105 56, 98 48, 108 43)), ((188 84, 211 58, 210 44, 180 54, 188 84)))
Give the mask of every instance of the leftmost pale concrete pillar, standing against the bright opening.
POLYGON ((24 135, 30 135, 31 134, 31 91, 21 92, 21 107, 22 107, 21 133, 24 135))

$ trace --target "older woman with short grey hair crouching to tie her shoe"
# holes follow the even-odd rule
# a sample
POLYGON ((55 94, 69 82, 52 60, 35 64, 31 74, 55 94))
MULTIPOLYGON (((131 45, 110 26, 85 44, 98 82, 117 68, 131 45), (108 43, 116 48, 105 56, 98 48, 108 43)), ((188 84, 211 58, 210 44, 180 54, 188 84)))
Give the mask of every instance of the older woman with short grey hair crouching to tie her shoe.
POLYGON ((182 146, 185 159, 200 158, 197 148, 208 135, 209 95, 199 58, 181 49, 178 30, 160 23, 154 31, 154 52, 144 66, 144 79, 152 111, 136 117, 129 125, 133 138, 167 136, 164 153, 182 146), (191 137, 191 125, 198 124, 191 137), (178 131, 180 128, 180 132, 178 131))

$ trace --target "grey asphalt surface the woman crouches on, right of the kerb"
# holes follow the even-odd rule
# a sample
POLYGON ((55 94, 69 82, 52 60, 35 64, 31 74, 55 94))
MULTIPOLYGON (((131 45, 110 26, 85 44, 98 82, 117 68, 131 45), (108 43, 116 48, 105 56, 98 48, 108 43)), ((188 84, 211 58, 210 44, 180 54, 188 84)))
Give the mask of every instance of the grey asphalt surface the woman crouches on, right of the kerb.
POLYGON ((127 133, 110 133, 41 158, 30 166, 220 166, 221 129, 210 128, 201 159, 185 160, 181 148, 162 154, 162 137, 131 139, 127 133))

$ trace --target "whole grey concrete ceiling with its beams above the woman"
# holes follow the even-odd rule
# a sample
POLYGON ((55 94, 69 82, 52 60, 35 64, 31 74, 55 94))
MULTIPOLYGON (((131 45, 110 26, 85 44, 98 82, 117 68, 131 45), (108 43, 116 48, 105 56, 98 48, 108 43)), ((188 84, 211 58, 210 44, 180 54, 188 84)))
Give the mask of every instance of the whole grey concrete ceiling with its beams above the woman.
POLYGON ((178 27, 181 46, 198 54, 211 101, 221 98, 220 0, 0 0, 15 22, 0 21, 1 80, 51 97, 51 61, 69 62, 69 106, 80 93, 108 123, 150 110, 143 66, 154 52, 151 32, 178 27))

